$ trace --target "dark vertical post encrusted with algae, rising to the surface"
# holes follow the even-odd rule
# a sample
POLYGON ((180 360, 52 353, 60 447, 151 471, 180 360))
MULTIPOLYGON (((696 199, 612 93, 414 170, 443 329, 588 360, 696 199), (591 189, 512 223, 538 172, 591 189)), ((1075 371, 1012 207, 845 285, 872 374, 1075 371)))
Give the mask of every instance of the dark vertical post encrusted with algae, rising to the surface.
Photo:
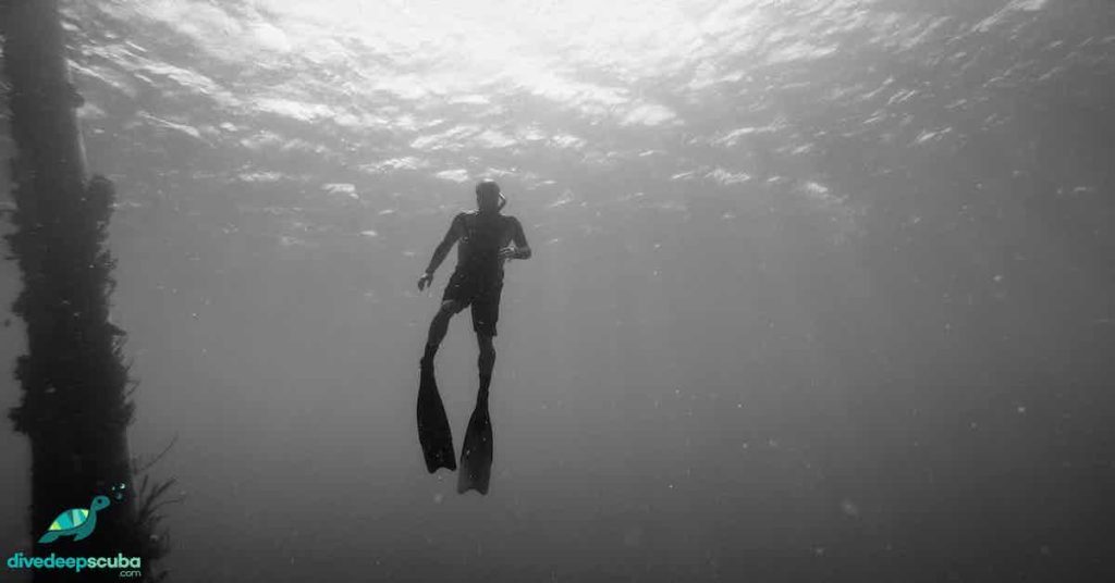
MULTIPOLYGON (((39 542, 33 552, 74 557, 139 557, 144 580, 164 546, 137 511, 127 425, 132 418, 123 333, 108 321, 114 261, 106 249, 114 186, 86 171, 58 0, 0 0, 11 161, 11 255, 22 274, 12 311, 27 329, 16 365, 22 399, 10 412, 31 445, 32 541, 86 526, 77 542, 39 542), (109 495, 106 497, 106 495, 109 495), (59 525, 60 512, 72 524, 59 525), (65 548, 59 547, 65 544, 65 548)), ((134 566, 135 562, 132 562, 134 566)), ((117 581, 119 569, 33 569, 35 581, 117 581)), ((130 570, 129 570, 130 571, 130 570)))

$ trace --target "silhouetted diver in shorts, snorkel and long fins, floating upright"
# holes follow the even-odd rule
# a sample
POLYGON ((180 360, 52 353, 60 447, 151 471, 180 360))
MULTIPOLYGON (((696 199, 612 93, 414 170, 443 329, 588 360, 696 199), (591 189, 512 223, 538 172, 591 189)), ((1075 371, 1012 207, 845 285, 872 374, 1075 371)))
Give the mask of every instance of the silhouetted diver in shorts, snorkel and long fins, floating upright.
POLYGON ((430 474, 440 467, 457 469, 453 435, 434 377, 434 356, 449 329, 449 320, 472 307, 473 330, 479 344, 479 390, 460 448, 460 474, 457 477, 457 492, 460 494, 469 489, 487 494, 492 470, 492 422, 487 399, 492 369, 495 367, 493 339, 500 319, 503 264, 512 259, 531 256, 523 225, 514 216, 501 214, 506 203, 507 198, 495 181, 477 183, 476 210, 453 217, 448 232, 434 250, 429 265, 418 278, 419 291, 430 285, 434 272, 449 254, 453 244, 457 243, 457 266, 445 286, 442 307, 429 324, 426 350, 419 361, 418 440, 430 474))

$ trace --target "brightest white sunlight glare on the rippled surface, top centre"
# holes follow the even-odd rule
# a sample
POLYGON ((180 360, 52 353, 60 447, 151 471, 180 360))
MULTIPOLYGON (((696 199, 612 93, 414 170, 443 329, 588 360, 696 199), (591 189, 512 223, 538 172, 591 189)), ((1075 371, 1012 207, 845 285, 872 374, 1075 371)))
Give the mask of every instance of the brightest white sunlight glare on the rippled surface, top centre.
MULTIPOLYGON (((493 90, 518 90, 590 116, 622 106, 619 123, 653 126, 676 114, 640 99, 631 84, 721 51, 724 40, 756 18, 755 6, 716 3, 709 11, 692 2, 256 0, 223 9, 161 0, 109 10, 167 25, 226 65, 288 75, 316 68, 334 97, 386 93, 483 105, 493 90), (600 77, 593 70, 610 80, 590 80, 600 77), (345 78, 336 77, 342 71, 345 78)), ((255 107, 301 120, 324 113, 320 103, 292 97, 320 89, 310 79, 288 78, 271 89, 288 97, 260 96, 255 107)))

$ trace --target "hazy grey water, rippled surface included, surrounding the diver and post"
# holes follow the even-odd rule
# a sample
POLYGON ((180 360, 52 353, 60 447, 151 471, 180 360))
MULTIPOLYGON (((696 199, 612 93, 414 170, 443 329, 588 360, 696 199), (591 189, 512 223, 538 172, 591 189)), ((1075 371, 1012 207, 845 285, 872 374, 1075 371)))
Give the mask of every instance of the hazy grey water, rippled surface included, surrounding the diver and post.
MULTIPOLYGON (((156 468, 186 495, 174 581, 1109 565, 1115 4, 117 0, 67 22, 90 166, 120 191, 133 449, 178 437, 156 468), (484 176, 534 258, 507 270, 482 498, 426 474, 414 401, 453 260, 434 297, 415 280, 484 176)), ((438 362, 457 447, 475 357, 465 313, 438 362)), ((26 463, 0 553, 26 543, 26 463)))

